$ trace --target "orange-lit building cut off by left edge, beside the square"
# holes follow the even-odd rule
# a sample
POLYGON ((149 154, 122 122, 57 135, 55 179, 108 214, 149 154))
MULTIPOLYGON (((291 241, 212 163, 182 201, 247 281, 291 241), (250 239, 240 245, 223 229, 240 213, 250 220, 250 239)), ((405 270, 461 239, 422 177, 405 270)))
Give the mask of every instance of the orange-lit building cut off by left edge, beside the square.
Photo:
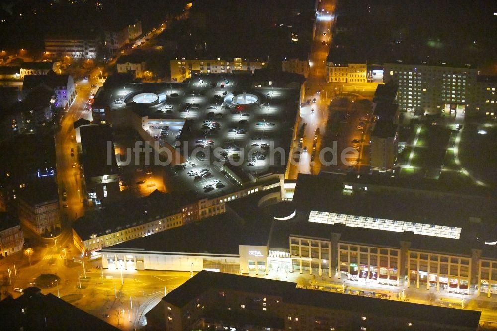
POLYGON ((19 219, 5 212, 0 212, 0 257, 7 257, 24 245, 19 219))

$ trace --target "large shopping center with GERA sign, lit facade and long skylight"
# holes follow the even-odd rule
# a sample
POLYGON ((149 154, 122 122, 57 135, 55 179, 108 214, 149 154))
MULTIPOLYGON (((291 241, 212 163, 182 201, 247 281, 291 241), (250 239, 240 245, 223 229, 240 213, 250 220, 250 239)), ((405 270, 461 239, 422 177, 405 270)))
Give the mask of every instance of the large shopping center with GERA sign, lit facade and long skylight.
POLYGON ((491 192, 388 181, 300 175, 293 203, 258 208, 271 190, 227 202, 222 215, 102 249, 102 266, 299 272, 363 285, 497 293, 491 192))

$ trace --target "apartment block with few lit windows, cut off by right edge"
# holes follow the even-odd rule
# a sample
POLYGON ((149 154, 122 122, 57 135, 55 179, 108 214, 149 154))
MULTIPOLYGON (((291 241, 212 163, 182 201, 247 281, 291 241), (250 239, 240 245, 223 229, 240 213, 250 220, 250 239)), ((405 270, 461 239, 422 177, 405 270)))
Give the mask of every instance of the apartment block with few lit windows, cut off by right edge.
POLYGON ((473 102, 477 114, 497 118, 497 76, 477 76, 473 102))

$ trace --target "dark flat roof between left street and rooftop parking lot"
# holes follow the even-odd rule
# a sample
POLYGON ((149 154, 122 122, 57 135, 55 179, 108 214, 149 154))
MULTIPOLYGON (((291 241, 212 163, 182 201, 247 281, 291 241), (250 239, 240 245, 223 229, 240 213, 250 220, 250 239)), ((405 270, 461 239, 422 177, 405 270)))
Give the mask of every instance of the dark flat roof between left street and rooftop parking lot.
POLYGON ((86 125, 79 128, 81 134, 82 164, 86 180, 92 177, 117 173, 114 140, 110 125, 86 125), (111 150, 108 142, 110 142, 111 150), (108 165, 108 154, 111 165, 108 165))

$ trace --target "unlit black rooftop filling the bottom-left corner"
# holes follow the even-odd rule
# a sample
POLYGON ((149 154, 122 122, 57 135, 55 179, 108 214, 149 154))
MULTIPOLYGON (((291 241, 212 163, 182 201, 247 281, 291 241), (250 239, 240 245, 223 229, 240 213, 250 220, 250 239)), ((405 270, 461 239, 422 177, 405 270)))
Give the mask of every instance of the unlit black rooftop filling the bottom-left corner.
POLYGON ((37 287, 26 288, 17 299, 0 301, 0 310, 3 330, 119 330, 37 287))

